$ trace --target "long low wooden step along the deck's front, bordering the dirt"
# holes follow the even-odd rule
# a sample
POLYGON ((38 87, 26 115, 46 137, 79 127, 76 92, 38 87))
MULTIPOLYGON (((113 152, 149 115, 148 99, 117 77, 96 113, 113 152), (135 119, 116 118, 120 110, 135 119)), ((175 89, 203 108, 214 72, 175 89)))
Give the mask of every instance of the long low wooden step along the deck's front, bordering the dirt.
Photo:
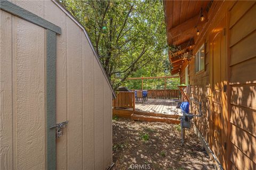
POLYGON ((170 117, 132 114, 131 119, 134 121, 165 122, 165 123, 170 123, 170 124, 180 124, 180 120, 178 118, 170 118, 170 117))

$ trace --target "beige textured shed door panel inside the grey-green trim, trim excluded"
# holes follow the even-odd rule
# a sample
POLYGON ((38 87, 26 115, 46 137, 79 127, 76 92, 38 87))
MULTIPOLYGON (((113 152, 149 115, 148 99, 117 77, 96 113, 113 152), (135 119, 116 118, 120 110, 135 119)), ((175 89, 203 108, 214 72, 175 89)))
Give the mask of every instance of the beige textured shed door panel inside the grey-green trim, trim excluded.
POLYGON ((1 10, 1 169, 46 169, 45 83, 45 29, 1 10))

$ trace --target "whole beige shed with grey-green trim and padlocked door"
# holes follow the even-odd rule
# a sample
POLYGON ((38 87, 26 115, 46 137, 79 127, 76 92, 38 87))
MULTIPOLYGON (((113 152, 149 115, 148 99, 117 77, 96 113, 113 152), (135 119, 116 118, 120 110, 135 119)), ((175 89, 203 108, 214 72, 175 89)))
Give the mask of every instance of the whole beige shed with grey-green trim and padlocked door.
POLYGON ((115 93, 65 8, 1 0, 0 69, 1 169, 111 167, 115 93))

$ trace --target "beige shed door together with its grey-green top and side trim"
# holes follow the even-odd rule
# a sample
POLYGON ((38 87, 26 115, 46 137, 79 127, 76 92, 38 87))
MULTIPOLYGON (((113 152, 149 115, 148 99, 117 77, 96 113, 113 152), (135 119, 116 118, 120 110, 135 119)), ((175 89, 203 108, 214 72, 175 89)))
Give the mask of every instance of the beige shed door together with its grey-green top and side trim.
POLYGON ((56 123, 55 31, 61 31, 9 1, 0 3, 0 169, 55 169, 50 127, 56 123))

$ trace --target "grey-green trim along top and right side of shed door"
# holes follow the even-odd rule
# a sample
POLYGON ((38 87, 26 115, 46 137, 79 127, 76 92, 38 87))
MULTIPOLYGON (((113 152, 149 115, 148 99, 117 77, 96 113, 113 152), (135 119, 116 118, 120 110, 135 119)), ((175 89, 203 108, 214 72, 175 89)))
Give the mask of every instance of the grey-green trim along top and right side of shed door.
POLYGON ((47 169, 56 169, 56 33, 61 28, 45 19, 6 0, 0 0, 1 10, 46 29, 46 164, 47 169))

